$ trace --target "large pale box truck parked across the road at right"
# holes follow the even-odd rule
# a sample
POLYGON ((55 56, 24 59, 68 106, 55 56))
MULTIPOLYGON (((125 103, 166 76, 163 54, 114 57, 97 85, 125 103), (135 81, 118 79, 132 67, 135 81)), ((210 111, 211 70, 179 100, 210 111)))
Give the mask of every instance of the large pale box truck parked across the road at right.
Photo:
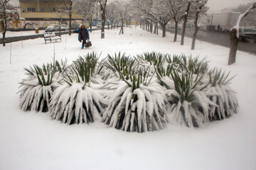
POLYGON ((237 23, 239 15, 239 12, 213 13, 207 29, 218 30, 218 25, 220 24, 220 31, 228 32, 237 23))

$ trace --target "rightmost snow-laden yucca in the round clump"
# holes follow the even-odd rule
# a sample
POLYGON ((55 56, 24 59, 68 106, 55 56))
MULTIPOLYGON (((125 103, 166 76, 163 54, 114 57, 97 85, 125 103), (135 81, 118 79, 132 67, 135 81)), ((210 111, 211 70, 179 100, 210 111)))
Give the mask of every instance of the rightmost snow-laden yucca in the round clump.
POLYGON ((228 86, 234 77, 228 78, 229 74, 230 72, 225 74, 221 69, 213 69, 208 73, 210 86, 207 87, 206 93, 210 101, 218 105, 218 107, 210 106, 210 120, 222 120, 238 111, 235 91, 228 86))

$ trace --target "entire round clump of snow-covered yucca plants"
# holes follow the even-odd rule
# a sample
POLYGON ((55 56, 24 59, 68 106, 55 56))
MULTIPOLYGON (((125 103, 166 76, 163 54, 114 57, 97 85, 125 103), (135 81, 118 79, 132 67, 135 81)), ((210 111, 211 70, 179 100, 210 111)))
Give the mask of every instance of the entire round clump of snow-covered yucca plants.
POLYGON ((98 59, 92 52, 69 66, 26 69, 21 109, 49 111, 68 125, 102 120, 127 132, 161 130, 170 122, 198 128, 238 111, 233 77, 209 70, 206 59, 159 52, 98 59))

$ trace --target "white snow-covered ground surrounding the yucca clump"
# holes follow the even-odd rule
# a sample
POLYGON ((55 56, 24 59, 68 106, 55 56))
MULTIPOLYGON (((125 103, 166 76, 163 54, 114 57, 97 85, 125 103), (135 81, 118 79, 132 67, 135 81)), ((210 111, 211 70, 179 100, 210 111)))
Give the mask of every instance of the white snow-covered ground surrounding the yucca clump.
POLYGON ((92 32, 92 47, 84 50, 75 34, 63 35, 62 42, 45 44, 38 38, 24 40, 23 47, 21 42, 0 47, 0 169, 256 169, 255 55, 238 51, 236 63, 228 66, 226 47, 197 41, 191 51, 191 38, 181 46, 170 34, 161 38, 139 28, 118 33, 106 30, 105 39, 100 39, 99 31, 92 32), (57 60, 69 62, 93 50, 102 52, 101 57, 153 50, 207 56, 210 67, 238 74, 230 85, 238 92, 238 114, 203 128, 169 124, 164 130, 139 134, 101 122, 65 125, 48 113, 21 111, 16 92, 26 77, 23 67, 52 61, 54 48, 57 60))

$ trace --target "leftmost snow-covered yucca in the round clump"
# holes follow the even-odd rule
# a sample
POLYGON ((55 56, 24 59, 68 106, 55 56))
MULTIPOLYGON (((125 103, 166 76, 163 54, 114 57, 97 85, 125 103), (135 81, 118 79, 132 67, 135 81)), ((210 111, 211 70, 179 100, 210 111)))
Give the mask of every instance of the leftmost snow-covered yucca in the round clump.
POLYGON ((20 107, 23 111, 47 112, 50 97, 53 91, 60 85, 58 82, 59 73, 65 69, 66 62, 60 64, 55 61, 50 64, 43 64, 43 67, 33 65, 26 69, 28 78, 21 81, 22 89, 20 107), (56 75, 58 73, 58 75, 56 75))

